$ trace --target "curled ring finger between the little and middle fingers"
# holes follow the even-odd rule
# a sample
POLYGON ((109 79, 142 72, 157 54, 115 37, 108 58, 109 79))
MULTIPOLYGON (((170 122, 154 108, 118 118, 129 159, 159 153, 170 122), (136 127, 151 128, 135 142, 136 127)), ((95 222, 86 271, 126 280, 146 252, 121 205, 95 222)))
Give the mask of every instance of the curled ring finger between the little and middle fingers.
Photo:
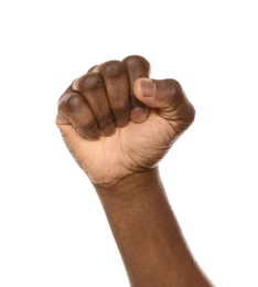
POLYGON ((86 99, 93 111, 103 136, 110 136, 116 131, 105 82, 99 73, 87 73, 76 79, 72 85, 73 91, 78 92, 86 99))

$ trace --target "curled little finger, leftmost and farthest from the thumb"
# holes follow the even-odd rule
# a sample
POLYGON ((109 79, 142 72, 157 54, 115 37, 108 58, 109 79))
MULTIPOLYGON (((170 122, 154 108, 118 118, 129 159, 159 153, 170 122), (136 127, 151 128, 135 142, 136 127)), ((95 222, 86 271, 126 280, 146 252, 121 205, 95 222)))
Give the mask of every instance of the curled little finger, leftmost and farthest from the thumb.
POLYGON ((73 125, 84 138, 99 138, 98 124, 83 95, 68 88, 58 102, 58 125, 73 125))

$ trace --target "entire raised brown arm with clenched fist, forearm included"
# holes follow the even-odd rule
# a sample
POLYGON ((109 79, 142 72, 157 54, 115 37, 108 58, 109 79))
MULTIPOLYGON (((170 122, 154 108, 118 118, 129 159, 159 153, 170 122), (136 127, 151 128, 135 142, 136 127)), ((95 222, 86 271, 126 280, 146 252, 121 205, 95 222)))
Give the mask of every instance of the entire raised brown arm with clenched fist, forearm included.
POLYGON ((96 65, 58 102, 56 125, 105 209, 132 287, 212 286, 166 199, 159 161, 194 120, 174 79, 128 56, 96 65))

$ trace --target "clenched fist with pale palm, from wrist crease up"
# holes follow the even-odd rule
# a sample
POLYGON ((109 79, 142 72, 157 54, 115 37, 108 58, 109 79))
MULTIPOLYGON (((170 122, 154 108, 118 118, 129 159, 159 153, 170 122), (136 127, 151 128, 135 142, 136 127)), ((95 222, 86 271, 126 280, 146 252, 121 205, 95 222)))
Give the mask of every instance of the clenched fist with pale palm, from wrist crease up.
POLYGON ((94 184, 116 184, 157 166, 192 124, 194 108, 174 79, 150 79, 141 56, 109 61, 75 79, 56 125, 94 184))

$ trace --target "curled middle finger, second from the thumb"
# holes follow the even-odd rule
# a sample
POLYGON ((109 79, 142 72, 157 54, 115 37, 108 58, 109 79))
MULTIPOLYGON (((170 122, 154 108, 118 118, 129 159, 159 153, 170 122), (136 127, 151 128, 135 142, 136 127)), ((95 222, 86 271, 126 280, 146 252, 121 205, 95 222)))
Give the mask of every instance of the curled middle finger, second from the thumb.
POLYGON ((94 71, 100 73, 105 81, 114 121, 118 127, 126 126, 131 114, 130 83, 126 65, 120 61, 109 61, 96 66, 94 71))

